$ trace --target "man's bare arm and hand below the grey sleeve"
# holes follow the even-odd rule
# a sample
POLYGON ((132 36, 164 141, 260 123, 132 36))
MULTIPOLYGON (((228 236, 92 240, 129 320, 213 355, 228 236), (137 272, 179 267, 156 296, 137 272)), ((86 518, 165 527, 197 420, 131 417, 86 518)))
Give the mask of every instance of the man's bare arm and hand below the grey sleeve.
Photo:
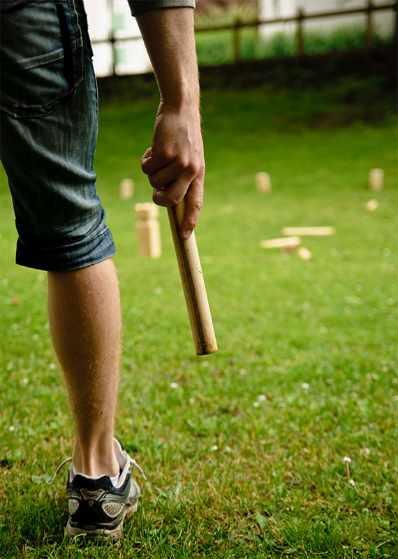
POLYGON ((185 196, 180 233, 189 238, 202 208, 205 176, 193 9, 160 9, 136 18, 161 93, 152 147, 142 157, 142 170, 156 204, 176 205, 185 196))

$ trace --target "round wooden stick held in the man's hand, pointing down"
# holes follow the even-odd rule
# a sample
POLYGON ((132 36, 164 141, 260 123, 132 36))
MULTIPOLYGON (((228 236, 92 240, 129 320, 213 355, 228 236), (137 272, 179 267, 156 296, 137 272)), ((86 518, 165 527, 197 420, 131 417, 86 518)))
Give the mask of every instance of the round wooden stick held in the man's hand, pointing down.
POLYGON ((168 217, 196 354, 208 355, 213 354, 218 348, 207 301, 205 280, 200 268, 195 233, 192 233, 188 240, 182 239, 179 234, 184 211, 183 200, 175 208, 168 208, 168 217))

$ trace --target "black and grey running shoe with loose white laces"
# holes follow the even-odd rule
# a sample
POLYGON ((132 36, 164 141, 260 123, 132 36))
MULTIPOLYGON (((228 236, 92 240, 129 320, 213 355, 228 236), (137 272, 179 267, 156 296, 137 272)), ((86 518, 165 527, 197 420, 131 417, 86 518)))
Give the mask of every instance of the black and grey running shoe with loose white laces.
POLYGON ((116 486, 109 476, 99 478, 76 474, 71 465, 68 474, 68 512, 66 535, 69 539, 81 536, 86 542, 117 542, 123 537, 123 523, 127 514, 138 508, 140 487, 131 477, 131 466, 140 466, 128 456, 115 439, 120 474, 116 486))

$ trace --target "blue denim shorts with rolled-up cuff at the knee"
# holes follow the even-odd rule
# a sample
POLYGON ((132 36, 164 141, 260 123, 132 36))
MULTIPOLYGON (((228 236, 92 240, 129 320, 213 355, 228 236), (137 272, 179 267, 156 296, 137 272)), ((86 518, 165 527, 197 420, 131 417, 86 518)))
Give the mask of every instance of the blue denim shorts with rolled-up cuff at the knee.
POLYGON ((0 1, 0 159, 16 261, 75 270, 115 254, 96 195, 96 79, 82 0, 0 1))

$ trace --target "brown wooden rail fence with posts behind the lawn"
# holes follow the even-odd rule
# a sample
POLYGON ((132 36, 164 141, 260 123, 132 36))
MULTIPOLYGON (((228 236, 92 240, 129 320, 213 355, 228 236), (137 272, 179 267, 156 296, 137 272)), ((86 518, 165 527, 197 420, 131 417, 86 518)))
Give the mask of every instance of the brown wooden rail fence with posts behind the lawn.
MULTIPOLYGON (((219 25, 214 27, 196 27, 195 33, 199 34, 199 33, 207 33, 207 32, 214 32, 214 31, 231 31, 232 41, 233 41, 233 64, 238 64, 240 60, 240 43, 241 43, 240 31, 242 29, 254 27, 258 31, 259 27, 263 27, 265 25, 295 22, 297 24, 296 34, 295 34, 296 36, 295 55, 297 57, 303 57, 305 53, 303 27, 304 27, 304 22, 306 20, 322 19, 324 17, 337 17, 341 15, 364 14, 366 17, 365 47, 367 48, 367 50, 371 50, 374 47, 373 14, 376 12, 381 12, 383 10, 391 10, 395 14, 394 43, 398 50, 398 0, 392 3, 385 3, 380 5, 375 5, 371 0, 368 0, 367 6, 364 6, 363 8, 353 8, 349 10, 336 10, 332 12, 304 13, 304 10, 300 8, 297 12, 297 15, 293 17, 279 17, 274 20, 253 20, 251 22, 242 22, 241 20, 237 19, 234 23, 226 24, 226 25, 219 25)), ((105 42, 112 43, 112 48, 114 52, 113 73, 115 73, 115 60, 116 60, 115 43, 121 43, 123 41, 134 41, 140 38, 141 38, 140 36, 116 38, 115 36, 112 35, 108 39, 108 41, 93 41, 93 43, 94 44, 105 43, 105 42)))

